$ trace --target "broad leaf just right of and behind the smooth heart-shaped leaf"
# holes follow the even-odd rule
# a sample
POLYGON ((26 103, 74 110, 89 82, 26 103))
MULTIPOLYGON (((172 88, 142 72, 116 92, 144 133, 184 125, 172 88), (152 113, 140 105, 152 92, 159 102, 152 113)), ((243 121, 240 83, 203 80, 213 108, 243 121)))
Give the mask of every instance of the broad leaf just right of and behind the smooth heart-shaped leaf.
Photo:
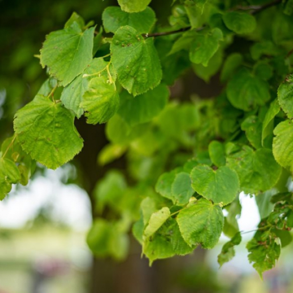
POLYGON ((243 146, 242 150, 227 157, 227 166, 237 172, 240 189, 251 194, 271 189, 282 172, 274 160, 272 150, 268 148, 254 151, 249 146, 243 146))

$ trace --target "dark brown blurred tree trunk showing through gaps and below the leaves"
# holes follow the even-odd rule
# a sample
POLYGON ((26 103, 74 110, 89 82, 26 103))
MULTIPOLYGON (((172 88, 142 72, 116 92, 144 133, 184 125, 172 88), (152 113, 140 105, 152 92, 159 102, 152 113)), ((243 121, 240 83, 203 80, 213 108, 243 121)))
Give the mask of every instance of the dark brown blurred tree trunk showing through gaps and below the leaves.
MULTIPOLYGON (((220 91, 218 77, 206 84, 188 74, 188 78, 171 88, 172 96, 183 97, 188 100, 191 93, 198 93, 201 97, 211 97, 220 91), (179 87, 179 88, 178 88, 179 87)), ((92 215, 95 216, 95 200, 92 197, 97 180, 101 179, 107 169, 115 167, 125 169, 125 160, 119 159, 105 167, 98 166, 96 158, 100 150, 107 144, 105 125, 88 125, 81 118, 76 122, 77 129, 84 138, 83 151, 77 161, 81 169, 83 187, 89 194, 92 204, 92 215)), ((148 260, 141 259, 141 246, 131 238, 130 253, 126 261, 117 263, 111 259, 93 259, 90 281, 90 293, 189 293, 187 289, 180 289, 176 284, 179 272, 193 268, 195 264, 202 264, 205 251, 197 249, 192 255, 174 257, 155 262, 148 266, 148 260)), ((209 291, 200 291, 209 292, 209 291)))

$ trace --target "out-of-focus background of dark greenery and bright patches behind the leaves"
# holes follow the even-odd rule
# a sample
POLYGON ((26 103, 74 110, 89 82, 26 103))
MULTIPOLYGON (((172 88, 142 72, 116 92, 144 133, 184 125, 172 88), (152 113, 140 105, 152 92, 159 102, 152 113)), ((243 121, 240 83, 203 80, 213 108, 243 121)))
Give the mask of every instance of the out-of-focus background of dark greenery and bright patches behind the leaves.
MULTIPOLYGON (((169 11, 159 2, 153 1, 152 7, 164 25, 169 11)), ((62 28, 73 11, 99 27, 102 11, 111 4, 117 5, 114 0, 0 0, 0 142, 12 134, 17 109, 32 100, 46 79, 34 57, 45 35, 62 28)), ((217 76, 209 84, 192 79, 193 88, 185 92, 196 88, 201 97, 219 93, 217 76)), ((180 86, 173 92, 180 93, 180 86)), ((77 128, 85 143, 74 164, 56 171, 38 166, 28 186, 14 187, 0 202, 0 293, 293 292, 292 244, 282 250, 264 281, 248 263, 245 241, 236 247, 236 257, 219 269, 217 254, 228 240, 225 236, 211 251, 197 249, 190 256, 156 261, 151 268, 135 240, 122 263, 94 259, 85 243, 93 213, 88 194, 107 168, 123 169, 125 162, 102 168, 88 160, 107 143, 104 126, 80 119, 77 128)), ((259 222, 255 200, 241 194, 240 201, 240 230, 253 230, 259 222)), ((250 237, 247 233, 244 240, 250 237)))

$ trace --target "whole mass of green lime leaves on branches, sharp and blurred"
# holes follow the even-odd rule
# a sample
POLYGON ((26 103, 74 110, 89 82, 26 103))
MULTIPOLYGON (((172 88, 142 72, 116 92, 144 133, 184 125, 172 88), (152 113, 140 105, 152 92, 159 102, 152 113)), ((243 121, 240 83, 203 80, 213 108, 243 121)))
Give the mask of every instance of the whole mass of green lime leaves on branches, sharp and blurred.
POLYGON ((36 162, 56 169, 78 154, 74 122, 84 115, 106 123, 98 164, 127 161, 94 191, 101 217, 87 243, 96 256, 124 259, 129 230, 150 263, 212 249, 224 233, 223 265, 241 242, 243 191, 259 207, 247 249, 262 275, 292 240, 293 1, 162 1, 168 25, 150 0, 117 4, 101 27, 73 13, 46 36, 37 57, 48 79, 2 143, 0 199, 28 183, 36 162), (171 99, 192 71, 207 83, 216 76, 221 93, 171 99))

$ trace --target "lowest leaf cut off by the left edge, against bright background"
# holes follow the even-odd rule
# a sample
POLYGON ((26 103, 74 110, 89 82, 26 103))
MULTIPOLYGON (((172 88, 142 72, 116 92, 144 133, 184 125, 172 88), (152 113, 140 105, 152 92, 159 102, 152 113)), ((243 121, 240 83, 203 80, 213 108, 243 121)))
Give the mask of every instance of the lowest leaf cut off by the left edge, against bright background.
POLYGON ((21 173, 11 160, 0 158, 0 200, 2 200, 11 190, 12 183, 21 180, 21 173))

